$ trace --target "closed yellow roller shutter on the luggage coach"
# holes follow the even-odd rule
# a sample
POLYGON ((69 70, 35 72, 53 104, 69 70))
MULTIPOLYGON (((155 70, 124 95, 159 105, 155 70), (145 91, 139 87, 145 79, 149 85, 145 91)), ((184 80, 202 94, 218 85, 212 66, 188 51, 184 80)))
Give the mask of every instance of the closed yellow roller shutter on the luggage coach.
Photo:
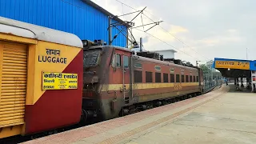
POLYGON ((0 128, 24 123, 27 48, 0 42, 0 128))

